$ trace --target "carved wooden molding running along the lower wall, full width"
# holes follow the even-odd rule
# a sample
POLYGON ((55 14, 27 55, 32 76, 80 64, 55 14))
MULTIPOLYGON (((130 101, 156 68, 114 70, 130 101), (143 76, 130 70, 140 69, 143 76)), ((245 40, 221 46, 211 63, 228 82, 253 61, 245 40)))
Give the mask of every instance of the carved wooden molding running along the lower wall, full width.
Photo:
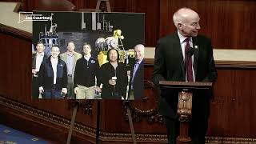
MULTIPOLYGON (((23 117, 36 117, 46 122, 51 122, 54 125, 61 126, 63 129, 68 129, 70 125, 70 120, 62 118, 58 115, 50 114, 48 112, 35 109, 31 106, 15 102, 9 98, 4 98, 0 96, 0 105, 14 110, 23 117)), ((1 110, 0 110, 1 111, 1 110)), ((43 121, 41 124, 43 125, 43 121)), ((74 125, 74 137, 78 137, 81 134, 87 138, 95 138, 95 129, 90 126, 85 126, 75 122, 74 125)), ((166 134, 136 134, 138 142, 150 142, 150 143, 166 143, 166 134)), ((132 142, 131 134, 124 133, 109 133, 105 131, 100 132, 100 141, 104 142, 132 142)), ((206 143, 230 143, 230 144, 254 144, 256 143, 256 138, 237 138, 237 137, 214 137, 206 136, 206 143)))

